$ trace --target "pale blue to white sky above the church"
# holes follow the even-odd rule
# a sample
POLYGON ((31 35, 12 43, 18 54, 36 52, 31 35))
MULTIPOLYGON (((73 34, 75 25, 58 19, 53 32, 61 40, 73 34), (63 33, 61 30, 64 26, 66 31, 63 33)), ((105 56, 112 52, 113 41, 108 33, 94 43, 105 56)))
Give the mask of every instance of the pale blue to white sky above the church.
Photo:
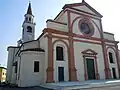
MULTIPOLYGON (((31 0, 35 16, 37 38, 46 27, 47 19, 54 19, 65 4, 80 3, 82 0, 31 0)), ((120 0, 85 0, 103 15, 103 30, 114 33, 120 41, 120 0)), ((22 23, 29 0, 0 0, 0 64, 7 66, 7 47, 17 45, 21 38, 22 23)), ((119 44, 120 49, 120 44, 119 44)))

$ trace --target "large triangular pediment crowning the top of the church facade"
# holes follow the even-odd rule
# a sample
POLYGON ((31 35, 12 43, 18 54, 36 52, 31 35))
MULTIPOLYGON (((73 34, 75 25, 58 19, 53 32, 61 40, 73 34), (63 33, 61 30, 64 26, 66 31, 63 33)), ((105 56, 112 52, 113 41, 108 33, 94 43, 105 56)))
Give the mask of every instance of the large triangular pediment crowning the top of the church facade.
POLYGON ((87 14, 92 14, 95 16, 98 16, 100 18, 102 18, 103 16, 97 12, 94 8, 92 8, 88 3, 86 2, 82 2, 82 3, 73 3, 73 4, 66 4, 64 8, 71 8, 74 9, 76 11, 80 11, 80 12, 84 12, 87 14))

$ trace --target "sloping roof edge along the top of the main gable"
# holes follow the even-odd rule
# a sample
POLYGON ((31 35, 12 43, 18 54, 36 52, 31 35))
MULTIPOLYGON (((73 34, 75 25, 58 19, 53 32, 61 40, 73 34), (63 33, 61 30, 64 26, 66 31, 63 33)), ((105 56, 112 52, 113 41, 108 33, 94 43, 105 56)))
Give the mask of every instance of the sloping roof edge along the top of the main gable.
POLYGON ((86 7, 88 7, 91 11, 96 13, 98 17, 100 17, 100 18, 103 17, 99 12, 97 12, 94 8, 92 8, 87 2, 85 2, 85 0, 83 0, 82 3, 65 4, 63 9, 65 9, 65 8, 72 8, 72 7, 76 7, 76 6, 84 6, 84 5, 86 7))

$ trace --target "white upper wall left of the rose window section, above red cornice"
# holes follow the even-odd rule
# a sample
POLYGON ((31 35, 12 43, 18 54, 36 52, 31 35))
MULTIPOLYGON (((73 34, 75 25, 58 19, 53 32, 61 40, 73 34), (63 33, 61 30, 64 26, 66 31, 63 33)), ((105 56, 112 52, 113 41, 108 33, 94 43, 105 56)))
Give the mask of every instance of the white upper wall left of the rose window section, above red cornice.
POLYGON ((51 22, 51 21, 47 22, 47 28, 68 32, 67 25, 51 22))

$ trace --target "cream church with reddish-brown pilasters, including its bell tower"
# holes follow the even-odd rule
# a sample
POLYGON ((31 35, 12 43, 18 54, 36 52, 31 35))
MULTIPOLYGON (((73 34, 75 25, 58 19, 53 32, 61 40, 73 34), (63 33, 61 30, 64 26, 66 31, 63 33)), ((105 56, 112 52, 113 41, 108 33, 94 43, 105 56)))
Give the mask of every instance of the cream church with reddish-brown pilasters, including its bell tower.
MULTIPOLYGON (((120 78, 118 41, 104 32, 102 15, 84 0, 65 4, 35 38, 29 3, 17 46, 9 46, 6 81, 19 87, 120 78)), ((39 25, 39 24, 38 24, 39 25)))

